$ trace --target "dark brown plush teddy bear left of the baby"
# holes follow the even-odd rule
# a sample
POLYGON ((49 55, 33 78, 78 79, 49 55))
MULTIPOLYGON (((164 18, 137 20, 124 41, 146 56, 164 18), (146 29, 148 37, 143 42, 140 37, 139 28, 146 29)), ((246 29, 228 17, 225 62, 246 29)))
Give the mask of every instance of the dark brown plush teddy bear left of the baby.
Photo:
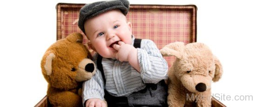
POLYGON ((48 82, 47 97, 53 107, 82 107, 82 81, 96 72, 81 33, 57 40, 45 52, 41 69, 48 82))

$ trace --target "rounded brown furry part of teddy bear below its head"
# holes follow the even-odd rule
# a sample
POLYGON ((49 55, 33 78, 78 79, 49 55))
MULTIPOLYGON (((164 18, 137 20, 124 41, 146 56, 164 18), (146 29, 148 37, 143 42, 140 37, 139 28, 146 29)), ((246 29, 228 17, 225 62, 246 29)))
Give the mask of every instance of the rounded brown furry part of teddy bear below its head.
POLYGON ((81 96, 70 91, 51 94, 49 101, 53 107, 82 107, 81 96))

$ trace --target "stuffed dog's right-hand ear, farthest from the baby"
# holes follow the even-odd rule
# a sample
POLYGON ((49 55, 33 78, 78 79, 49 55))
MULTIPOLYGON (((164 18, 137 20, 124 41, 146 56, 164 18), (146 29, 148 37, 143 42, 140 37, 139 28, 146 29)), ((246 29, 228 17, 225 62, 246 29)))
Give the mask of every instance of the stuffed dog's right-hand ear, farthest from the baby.
POLYGON ((222 74, 223 74, 223 69, 222 69, 222 64, 221 64, 220 60, 218 60, 216 57, 214 57, 214 60, 216 63, 216 65, 215 65, 216 68, 215 68, 215 74, 214 74, 214 77, 212 80, 214 82, 216 82, 221 79, 222 74))

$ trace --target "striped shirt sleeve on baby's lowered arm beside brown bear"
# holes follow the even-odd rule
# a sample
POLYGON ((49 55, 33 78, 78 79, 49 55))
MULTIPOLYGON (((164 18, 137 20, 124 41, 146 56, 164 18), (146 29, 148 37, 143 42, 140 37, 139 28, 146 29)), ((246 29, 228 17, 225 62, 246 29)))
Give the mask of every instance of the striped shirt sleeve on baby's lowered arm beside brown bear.
MULTIPOLYGON (((97 55, 96 55, 97 56, 97 55)), ((96 57, 94 56, 94 62, 96 64, 96 57)), ((96 70, 93 77, 83 83, 82 101, 83 106, 86 100, 90 98, 104 99, 104 83, 100 70, 96 70)))

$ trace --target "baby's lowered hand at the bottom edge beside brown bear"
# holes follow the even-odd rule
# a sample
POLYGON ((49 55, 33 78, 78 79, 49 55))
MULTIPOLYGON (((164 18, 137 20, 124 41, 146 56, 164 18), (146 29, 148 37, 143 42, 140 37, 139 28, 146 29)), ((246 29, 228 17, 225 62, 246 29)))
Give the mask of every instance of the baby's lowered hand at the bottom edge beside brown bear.
POLYGON ((99 98, 91 98, 86 101, 85 107, 107 107, 107 103, 99 98))

